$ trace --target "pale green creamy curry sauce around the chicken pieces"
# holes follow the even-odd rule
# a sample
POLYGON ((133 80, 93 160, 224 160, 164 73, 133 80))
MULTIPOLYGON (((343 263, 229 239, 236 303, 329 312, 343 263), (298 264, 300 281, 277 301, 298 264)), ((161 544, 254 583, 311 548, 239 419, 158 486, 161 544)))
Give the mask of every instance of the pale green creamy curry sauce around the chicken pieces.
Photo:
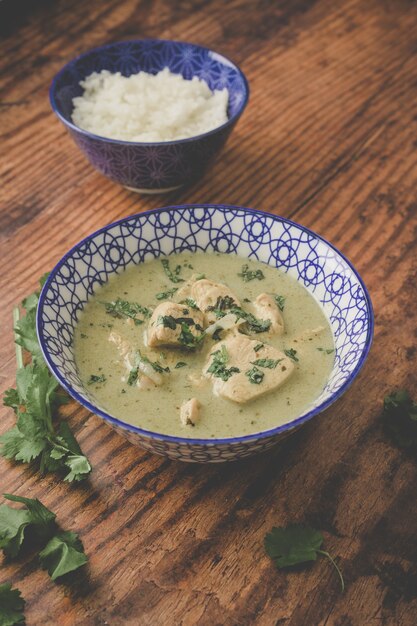
MULTIPOLYGON (((158 259, 131 266, 114 276, 96 291, 80 316, 75 329, 75 359, 81 380, 96 404, 110 415, 146 430, 191 438, 256 433, 285 424, 303 413, 322 392, 334 361, 330 324, 305 287, 275 268, 234 255, 181 253, 170 256, 169 262, 172 269, 181 265, 179 276, 183 279, 204 273, 207 278, 228 285, 249 312, 253 312, 253 308, 247 300, 253 302, 260 293, 285 298, 282 312, 285 333, 282 336, 257 333, 251 335, 251 339, 266 342, 279 350, 295 350, 298 361, 294 374, 278 389, 241 405, 214 396, 209 380, 200 381, 198 386, 195 384, 216 343, 211 337, 207 336, 196 352, 147 348, 144 333, 148 320, 145 316, 138 313, 137 317, 145 321, 137 325, 133 320, 113 317, 106 312, 103 303, 120 298, 152 311, 161 303, 156 294, 181 288, 183 283, 172 283, 158 259), (238 274, 246 263, 249 270, 261 270, 264 279, 244 282, 238 274), (319 332, 312 332, 320 327, 319 332), (116 345, 109 341, 111 332, 119 333, 132 350, 139 349, 151 361, 170 368, 169 373, 161 374, 161 386, 140 389, 127 384, 129 371, 116 345), (186 365, 175 368, 178 362, 186 365), (180 422, 180 406, 191 398, 197 398, 201 403, 201 419, 195 426, 185 426, 180 422)), ((175 294, 172 299, 175 300, 175 294)))

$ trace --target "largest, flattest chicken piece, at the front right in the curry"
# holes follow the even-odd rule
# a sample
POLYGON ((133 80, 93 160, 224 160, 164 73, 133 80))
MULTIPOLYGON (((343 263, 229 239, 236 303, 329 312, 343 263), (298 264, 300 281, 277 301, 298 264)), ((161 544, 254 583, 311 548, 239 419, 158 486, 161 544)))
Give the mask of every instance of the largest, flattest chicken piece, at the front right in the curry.
POLYGON ((277 389, 293 372, 294 363, 283 352, 240 333, 213 346, 203 370, 216 396, 239 404, 277 389))

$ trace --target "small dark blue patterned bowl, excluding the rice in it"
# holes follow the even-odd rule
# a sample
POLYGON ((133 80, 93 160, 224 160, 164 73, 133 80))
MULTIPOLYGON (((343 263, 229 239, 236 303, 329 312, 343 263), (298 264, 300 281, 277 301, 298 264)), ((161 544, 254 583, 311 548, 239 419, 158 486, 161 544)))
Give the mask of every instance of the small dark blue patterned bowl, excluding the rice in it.
POLYGON ((180 41, 144 39, 95 48, 70 61, 55 76, 49 95, 53 111, 101 174, 133 191, 162 193, 204 173, 243 113, 249 87, 243 72, 217 52, 180 41), (196 137, 154 143, 106 139, 71 121, 72 99, 82 94, 79 82, 91 72, 109 70, 130 76, 141 70, 156 74, 164 67, 186 79, 198 76, 210 89, 226 87, 228 121, 196 137))

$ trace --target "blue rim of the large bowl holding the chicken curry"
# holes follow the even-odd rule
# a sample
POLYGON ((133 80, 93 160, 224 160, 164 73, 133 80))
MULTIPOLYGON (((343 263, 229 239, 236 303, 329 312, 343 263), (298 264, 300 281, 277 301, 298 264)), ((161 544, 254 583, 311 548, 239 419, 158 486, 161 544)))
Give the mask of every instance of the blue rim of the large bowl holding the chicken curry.
MULTIPOLYGON (((245 258, 245 257, 242 257, 245 258)), ((239 444, 239 443, 245 443, 245 442, 250 442, 250 441, 257 441, 260 439, 266 439, 268 437, 274 437, 276 435, 279 435, 283 432, 292 430, 294 428, 297 428, 298 426, 301 426, 301 424, 304 424, 305 422, 309 421, 310 419, 312 419, 315 415, 322 413, 325 409, 327 409, 331 404, 333 404, 336 400, 338 400, 338 398, 340 398, 340 396, 350 387, 350 385, 353 383, 354 379, 356 378, 357 374, 359 373, 359 371, 362 369, 365 360, 368 356, 369 350, 371 348, 371 344, 372 344, 372 338, 373 338, 373 330, 374 330, 374 312, 373 312, 373 307, 372 307, 372 302, 371 302, 371 298, 369 295, 369 292, 361 278, 361 276, 359 275, 359 273, 357 272, 357 270, 354 268, 354 266, 352 265, 352 263, 345 257, 345 255, 343 253, 341 253, 333 244, 329 243, 326 239, 324 239, 324 237, 321 237, 320 235, 318 235, 317 233, 315 233, 314 231, 310 230, 309 228, 307 228, 306 226, 302 226, 301 224, 298 224, 297 222, 294 222, 293 220, 290 220, 288 218, 282 217, 280 215, 275 215, 273 213, 268 213, 267 211, 262 211, 259 209, 252 209, 252 208, 248 208, 248 207, 243 207, 243 206, 236 206, 236 205, 229 205, 229 204, 181 204, 181 205, 170 205, 170 206, 166 206, 166 207, 161 207, 161 208, 157 208, 157 209, 150 209, 147 211, 142 211, 141 213, 135 213, 132 214, 130 216, 127 217, 123 217, 119 220, 116 220, 115 222, 111 222, 110 224, 107 224, 106 226, 103 226, 102 228, 99 228, 98 230, 94 231, 93 233, 91 233, 90 235, 87 235, 87 237, 84 237, 84 239, 82 239, 81 241, 79 241, 78 243, 76 243, 74 246, 71 247, 71 249, 58 261, 58 263, 55 265, 55 267, 52 269, 52 271, 50 272, 42 290, 39 296, 39 304, 38 304, 38 308, 37 308, 37 312, 36 312, 36 331, 37 331, 37 336, 38 336, 38 341, 41 347, 41 351, 43 354, 43 357, 49 367, 49 369, 51 370, 52 374, 57 378, 57 380, 60 382, 60 384, 62 385, 62 387, 70 394, 70 396, 72 396, 77 402, 79 402, 79 404, 81 404, 82 406, 86 407, 87 409, 89 409, 92 413, 94 413, 95 415, 98 415, 99 417, 102 417, 105 421, 110 422, 110 424, 112 424, 113 426, 116 426, 118 428, 121 428, 122 430, 126 430, 126 431, 130 431, 130 432, 134 432, 142 437, 148 438, 148 439, 153 439, 153 440, 158 440, 158 441, 164 441, 167 443, 177 443, 177 444, 183 444, 185 446, 190 446, 190 445, 200 445, 200 446, 215 446, 215 445, 219 445, 219 444, 239 444), (286 223, 289 224, 290 226, 294 226, 296 228, 301 229, 304 233, 311 235, 312 237, 315 237, 317 239, 319 239, 320 241, 322 241, 323 243, 325 243, 327 246, 329 246, 332 250, 334 250, 338 255, 340 255, 340 257, 345 261, 345 263, 348 265, 348 267, 352 270, 353 274, 355 275, 355 277, 357 278, 357 280, 359 281, 364 295, 365 295, 365 300, 366 300, 366 305, 367 305, 367 314, 368 314, 368 329, 367 329, 367 336, 366 336, 366 341, 365 341, 365 346, 362 349, 362 353, 360 355, 360 358, 355 366, 355 368, 352 370, 352 372, 349 374, 348 378, 345 380, 345 382, 343 383, 343 385, 340 387, 340 389, 338 389, 338 391, 336 391, 335 393, 333 393, 326 401, 322 402, 318 407, 315 407, 314 409, 312 409, 311 411, 308 411, 307 413, 305 413, 304 415, 295 418, 294 420, 287 422, 285 424, 281 424, 280 426, 275 426, 274 428, 268 429, 268 430, 263 430, 257 433, 251 433, 249 435, 242 435, 242 436, 238 436, 238 437, 222 437, 222 438, 211 438, 211 439, 206 439, 206 438, 189 438, 189 437, 178 437, 178 436, 174 436, 174 435, 165 435, 163 433, 156 433, 150 430, 146 430, 144 428, 140 428, 139 426, 134 426, 133 424, 129 424, 127 422, 124 422, 121 419, 118 419, 117 417, 114 417, 112 415, 110 415, 109 413, 106 413, 106 411, 103 411, 102 409, 96 407, 94 404, 92 404, 91 402, 89 402, 88 400, 85 400, 84 398, 82 398, 80 396, 80 394, 75 391, 72 386, 67 383, 66 379, 61 375, 61 373, 59 372, 58 368, 54 365, 54 363, 52 362, 52 360, 49 357, 49 353, 48 353, 48 349, 45 345, 45 342, 43 340, 43 335, 42 335, 42 331, 43 331, 43 308, 44 308, 44 301, 45 301, 45 296, 46 296, 46 292, 49 289, 49 285, 51 284, 51 282, 53 281, 55 275, 57 274, 57 272, 61 269, 61 267, 66 263, 67 259, 69 257, 71 257, 73 255, 73 253, 80 247, 82 246, 85 242, 94 239, 95 237, 97 237, 98 235, 100 235, 103 232, 106 232, 107 230, 118 226, 119 224, 123 224, 125 222, 128 222, 129 220, 132 219, 137 219, 140 218, 141 216, 147 216, 153 213, 166 213, 166 212, 170 212, 170 211, 176 211, 176 210, 181 210, 181 211, 187 211, 189 209, 215 209, 217 210, 221 210, 222 212, 224 211, 241 211, 242 213, 249 213, 249 214, 256 214, 256 215, 260 215, 265 217, 268 217, 270 219, 272 219, 273 221, 277 221, 277 222, 281 222, 281 223, 286 223)))

